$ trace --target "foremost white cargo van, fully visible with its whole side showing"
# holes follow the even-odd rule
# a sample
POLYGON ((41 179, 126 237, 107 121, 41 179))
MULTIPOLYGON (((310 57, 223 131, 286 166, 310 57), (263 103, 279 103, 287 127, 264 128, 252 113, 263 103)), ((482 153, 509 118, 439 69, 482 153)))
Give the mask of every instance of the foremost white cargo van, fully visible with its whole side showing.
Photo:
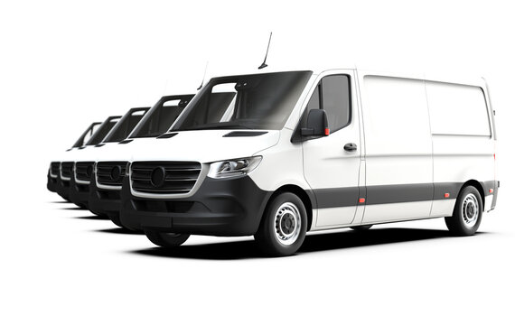
POLYGON ((120 221, 158 246, 254 235, 269 255, 294 254, 307 231, 423 218, 473 235, 499 187, 493 117, 484 79, 214 78, 168 139, 135 151, 120 221))

